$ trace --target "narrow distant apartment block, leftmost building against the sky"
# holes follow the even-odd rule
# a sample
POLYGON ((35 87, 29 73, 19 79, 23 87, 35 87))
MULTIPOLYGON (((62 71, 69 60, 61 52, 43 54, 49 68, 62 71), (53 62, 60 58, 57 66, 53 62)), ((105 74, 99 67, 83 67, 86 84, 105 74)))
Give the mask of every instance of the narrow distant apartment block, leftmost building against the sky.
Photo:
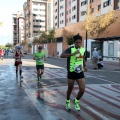
POLYGON ((24 15, 23 11, 12 14, 13 44, 16 45, 24 40, 24 15))

